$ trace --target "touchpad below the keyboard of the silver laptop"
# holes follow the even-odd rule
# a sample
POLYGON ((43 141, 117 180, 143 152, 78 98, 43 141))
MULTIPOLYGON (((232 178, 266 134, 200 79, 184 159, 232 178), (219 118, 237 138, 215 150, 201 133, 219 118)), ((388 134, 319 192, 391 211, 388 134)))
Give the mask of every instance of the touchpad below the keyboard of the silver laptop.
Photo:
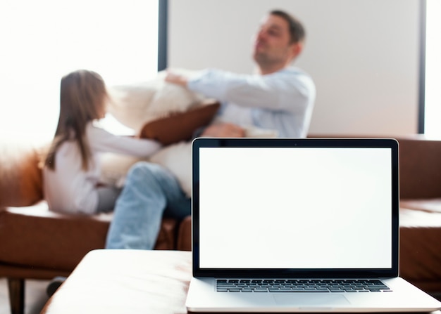
POLYGON ((349 301, 342 294, 273 294, 275 303, 283 306, 326 307, 344 306, 349 301))

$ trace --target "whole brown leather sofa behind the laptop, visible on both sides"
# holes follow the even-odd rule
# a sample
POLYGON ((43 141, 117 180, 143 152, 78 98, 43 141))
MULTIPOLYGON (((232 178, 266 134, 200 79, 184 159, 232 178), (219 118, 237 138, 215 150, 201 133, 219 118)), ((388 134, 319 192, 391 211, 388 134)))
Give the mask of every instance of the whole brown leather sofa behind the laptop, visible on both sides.
MULTIPOLYGON (((400 274, 441 295, 441 140, 400 136, 400 274)), ((23 313, 25 280, 68 276, 104 247, 112 214, 48 210, 39 169, 41 145, 0 143, 0 277, 12 313, 23 313)), ((163 218, 155 249, 191 250, 191 217, 163 218)))

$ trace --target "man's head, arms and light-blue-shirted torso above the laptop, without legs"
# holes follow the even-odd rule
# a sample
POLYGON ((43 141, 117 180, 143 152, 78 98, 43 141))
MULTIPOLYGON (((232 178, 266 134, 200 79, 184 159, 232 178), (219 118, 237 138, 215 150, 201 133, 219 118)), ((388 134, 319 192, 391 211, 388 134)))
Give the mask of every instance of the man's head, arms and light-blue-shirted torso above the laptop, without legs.
POLYGON ((304 37, 300 22, 283 11, 271 11, 254 40, 256 74, 206 70, 187 79, 169 72, 166 81, 223 103, 219 119, 224 123, 206 129, 205 136, 243 136, 244 128, 254 126, 276 130, 280 137, 304 137, 315 86, 307 74, 290 66, 304 48, 304 37))

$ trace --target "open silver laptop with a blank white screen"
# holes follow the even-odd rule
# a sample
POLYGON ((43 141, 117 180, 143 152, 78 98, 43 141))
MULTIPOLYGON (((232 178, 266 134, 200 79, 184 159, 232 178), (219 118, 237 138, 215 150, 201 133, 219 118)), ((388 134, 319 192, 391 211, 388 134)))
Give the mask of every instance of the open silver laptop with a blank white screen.
POLYGON ((190 312, 429 312, 399 277, 399 146, 197 138, 190 312))

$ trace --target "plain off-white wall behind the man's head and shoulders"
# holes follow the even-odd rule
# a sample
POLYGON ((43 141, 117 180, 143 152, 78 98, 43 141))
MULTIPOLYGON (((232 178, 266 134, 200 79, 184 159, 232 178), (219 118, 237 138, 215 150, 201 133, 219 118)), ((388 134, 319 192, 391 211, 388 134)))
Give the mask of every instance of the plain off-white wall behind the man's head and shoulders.
POLYGON ((309 133, 417 132, 419 0, 169 0, 168 66, 251 73, 251 37, 273 8, 306 27, 295 65, 316 82, 309 133))

